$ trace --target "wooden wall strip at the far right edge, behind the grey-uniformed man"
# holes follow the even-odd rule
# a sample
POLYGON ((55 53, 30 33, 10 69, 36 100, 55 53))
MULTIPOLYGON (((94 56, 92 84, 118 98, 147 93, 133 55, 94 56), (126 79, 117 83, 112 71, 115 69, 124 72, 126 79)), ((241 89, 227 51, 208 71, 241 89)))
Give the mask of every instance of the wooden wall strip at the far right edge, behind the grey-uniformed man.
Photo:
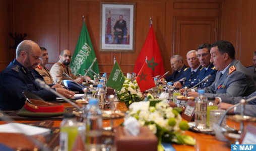
POLYGON ((253 65, 252 54, 256 51, 256 1, 242 1, 240 7, 242 8, 240 60, 244 66, 250 66, 253 65))

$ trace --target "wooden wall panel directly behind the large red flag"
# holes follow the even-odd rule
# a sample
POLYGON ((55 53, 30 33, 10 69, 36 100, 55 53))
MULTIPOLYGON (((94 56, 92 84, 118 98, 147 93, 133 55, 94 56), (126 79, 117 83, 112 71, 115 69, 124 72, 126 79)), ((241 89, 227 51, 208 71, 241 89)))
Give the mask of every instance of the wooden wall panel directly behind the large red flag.
MULTIPOLYGON (((158 46, 164 59, 165 45, 165 2, 137 2, 136 3, 136 39, 135 52, 121 52, 121 63, 119 64, 124 73, 132 73, 135 62, 148 36, 150 18, 153 21, 153 29, 158 46), (158 12, 158 13, 156 13, 158 12)), ((145 58, 146 59, 146 58, 145 58)))

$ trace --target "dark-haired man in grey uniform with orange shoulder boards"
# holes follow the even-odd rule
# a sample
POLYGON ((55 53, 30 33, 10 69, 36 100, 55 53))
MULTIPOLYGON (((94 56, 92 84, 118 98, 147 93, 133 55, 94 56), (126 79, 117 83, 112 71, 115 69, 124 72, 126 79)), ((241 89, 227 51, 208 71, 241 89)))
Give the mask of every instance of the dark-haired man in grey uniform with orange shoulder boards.
MULTIPOLYGON (((212 44, 211 56, 211 62, 219 71, 214 83, 204 88, 206 97, 248 96, 256 91, 249 71, 240 61, 235 60, 235 48, 230 42, 220 40, 212 44)), ((191 90, 187 94, 196 97, 198 90, 200 89, 191 90)))

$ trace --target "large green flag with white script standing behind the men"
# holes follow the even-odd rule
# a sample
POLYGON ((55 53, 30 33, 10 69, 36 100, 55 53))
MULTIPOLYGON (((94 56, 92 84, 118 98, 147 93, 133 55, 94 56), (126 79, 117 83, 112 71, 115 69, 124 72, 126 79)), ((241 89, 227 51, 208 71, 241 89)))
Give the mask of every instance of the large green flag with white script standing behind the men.
MULTIPOLYGON (((96 73, 100 73, 98 61, 85 23, 83 24, 70 64, 71 71, 75 75, 77 75, 77 73, 86 75, 87 73, 84 69, 88 70, 89 68, 96 73)), ((94 75, 92 71, 89 72, 94 75)), ((93 79, 93 77, 91 77, 91 79, 93 79)))

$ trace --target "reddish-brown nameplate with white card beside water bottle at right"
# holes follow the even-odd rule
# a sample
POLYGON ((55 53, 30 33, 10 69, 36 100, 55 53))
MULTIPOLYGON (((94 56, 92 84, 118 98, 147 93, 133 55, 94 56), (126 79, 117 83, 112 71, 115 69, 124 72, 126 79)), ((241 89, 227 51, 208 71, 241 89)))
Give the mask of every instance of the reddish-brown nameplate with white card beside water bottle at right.
POLYGON ((196 103, 192 100, 188 100, 184 112, 182 112, 181 114, 181 117, 187 120, 188 122, 194 121, 195 108, 196 103))

